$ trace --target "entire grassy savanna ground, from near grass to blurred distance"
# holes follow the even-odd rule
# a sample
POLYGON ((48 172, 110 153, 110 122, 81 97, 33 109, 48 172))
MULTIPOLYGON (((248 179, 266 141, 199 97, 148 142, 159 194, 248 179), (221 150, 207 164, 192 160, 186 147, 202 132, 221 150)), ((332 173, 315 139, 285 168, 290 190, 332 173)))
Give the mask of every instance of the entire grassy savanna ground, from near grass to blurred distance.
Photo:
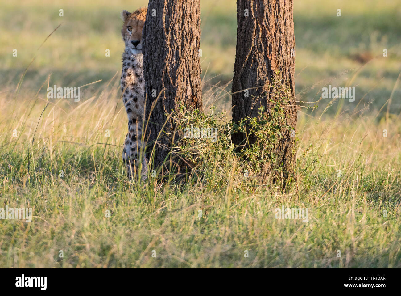
POLYGON ((190 182, 147 186, 130 186, 120 161, 118 87, 119 13, 146 2, 3 1, 0 207, 33 217, 0 220, 0 267, 401 267, 401 1, 294 2, 296 98, 318 108, 298 113, 298 180, 280 194, 245 178, 225 136, 233 0, 201 0, 218 141, 195 144, 190 182), (74 102, 47 99, 48 84, 90 85, 74 102), (356 87, 355 102, 321 99, 328 84, 356 87), (308 222, 276 219, 282 206, 308 208, 308 222))

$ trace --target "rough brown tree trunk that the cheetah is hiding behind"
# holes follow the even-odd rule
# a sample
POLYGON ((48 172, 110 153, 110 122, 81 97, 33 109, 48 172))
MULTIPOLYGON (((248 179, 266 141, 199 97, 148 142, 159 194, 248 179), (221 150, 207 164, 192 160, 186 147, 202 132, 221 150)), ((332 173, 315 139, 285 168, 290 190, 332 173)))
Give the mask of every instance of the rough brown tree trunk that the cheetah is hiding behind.
MULTIPOLYGON (((153 163, 158 166, 181 133, 170 135, 175 123, 168 114, 172 110, 179 114, 180 105, 202 110, 199 0, 150 0, 143 42, 146 120, 149 118, 145 135, 148 153, 155 147, 153 163)), ((174 157, 170 154, 168 159, 174 157)))

